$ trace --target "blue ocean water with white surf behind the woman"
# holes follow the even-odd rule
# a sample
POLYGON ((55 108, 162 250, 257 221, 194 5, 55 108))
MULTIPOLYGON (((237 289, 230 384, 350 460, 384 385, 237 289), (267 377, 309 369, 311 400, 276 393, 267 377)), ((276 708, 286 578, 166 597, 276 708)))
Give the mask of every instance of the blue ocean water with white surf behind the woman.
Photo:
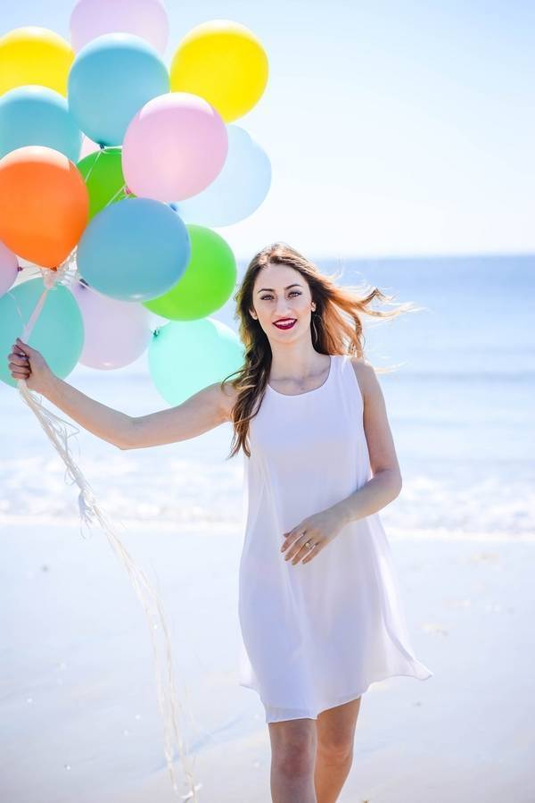
MULTIPOLYGON (((341 266, 317 263, 325 272, 341 266)), ((382 511, 387 531, 533 533, 535 255, 345 259, 342 268, 342 284, 365 280, 424 308, 365 327, 367 359, 397 366, 379 375, 403 474, 401 494, 382 511)), ((232 299, 214 317, 235 328, 232 299)), ((132 415, 167 406, 146 355, 118 371, 78 365, 66 381, 132 415)), ((35 416, 4 384, 0 410, 0 523, 76 523, 77 489, 35 416)), ((119 521, 227 531, 242 514, 243 457, 226 460, 231 439, 224 424, 128 452, 84 430, 70 443, 119 521)))

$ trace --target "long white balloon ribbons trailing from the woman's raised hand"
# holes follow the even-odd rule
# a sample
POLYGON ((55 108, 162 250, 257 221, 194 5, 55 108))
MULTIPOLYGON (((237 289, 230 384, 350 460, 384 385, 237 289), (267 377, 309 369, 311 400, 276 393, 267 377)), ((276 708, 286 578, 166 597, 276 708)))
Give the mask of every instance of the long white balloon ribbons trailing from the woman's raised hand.
MULTIPOLYGON (((40 314, 45 298, 50 289, 53 289, 56 284, 59 284, 65 275, 67 266, 73 261, 73 255, 70 255, 65 263, 62 263, 57 271, 52 272, 46 270, 43 279, 45 281, 45 290, 39 297, 37 305, 29 318, 28 323, 24 323, 21 309, 17 305, 18 313, 21 316, 23 323, 23 336, 22 339, 26 342, 31 330, 35 326, 37 317, 40 314), (53 274, 53 275, 49 275, 53 274)), ((10 294, 11 295, 11 294, 10 294)), ((15 301, 16 303, 16 301, 15 301)), ((78 465, 72 459, 69 448, 69 439, 78 434, 77 427, 73 427, 75 432, 69 433, 67 427, 73 426, 70 422, 65 421, 60 416, 53 414, 47 410, 42 404, 42 397, 37 397, 26 384, 25 380, 18 380, 17 387, 21 393, 23 401, 29 406, 37 417, 37 421, 45 431, 46 435, 53 444, 53 448, 57 451, 62 458, 63 463, 66 465, 66 474, 70 475, 72 483, 78 485, 78 511, 82 523, 87 527, 94 523, 94 519, 100 524, 103 532, 105 533, 108 543, 115 552, 119 561, 124 565, 131 584, 136 591, 143 608, 144 614, 149 625, 151 633, 152 654, 154 659, 156 671, 156 691, 158 706, 161 711, 164 726, 164 753, 166 762, 169 769, 169 775, 174 792, 178 795, 177 777, 175 774, 175 767, 173 765, 174 750, 173 740, 177 744, 177 753, 181 760, 182 767, 185 774, 185 783, 187 786, 186 794, 182 795, 184 800, 197 801, 197 790, 202 788, 202 783, 195 783, 193 776, 193 768, 188 763, 186 754, 189 749, 186 745, 184 751, 184 741, 180 736, 177 725, 177 706, 181 713, 188 715, 193 722, 193 718, 189 708, 184 708, 177 700, 177 693, 175 688, 175 678, 173 673, 173 659, 171 655, 171 640, 169 637, 169 628, 166 622, 161 598, 158 593, 152 589, 150 582, 147 580, 144 572, 136 566, 136 563, 129 555, 127 549, 119 540, 119 536, 114 532, 111 517, 105 513, 103 507, 99 505, 95 498, 95 493, 89 483, 86 481, 83 473, 79 470, 78 465), (152 622, 152 615, 155 615, 155 620, 152 622), (157 639, 157 633, 161 633, 160 645, 157 639), (161 650, 163 650, 163 657, 161 657, 161 650)), ((82 532, 82 523, 80 524, 80 532, 82 532)), ((83 535, 83 533, 82 533, 83 535)), ((84 536, 85 537, 85 536, 84 536)), ((193 759, 194 764, 194 759, 193 759)))

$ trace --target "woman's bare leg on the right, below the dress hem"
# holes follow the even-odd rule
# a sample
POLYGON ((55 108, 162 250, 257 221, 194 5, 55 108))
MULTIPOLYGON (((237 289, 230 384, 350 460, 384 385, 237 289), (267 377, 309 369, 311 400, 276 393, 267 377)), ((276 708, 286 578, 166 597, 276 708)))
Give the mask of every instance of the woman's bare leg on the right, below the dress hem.
POLYGON ((351 700, 317 715, 314 771, 317 803, 335 803, 350 774, 360 700, 351 700))

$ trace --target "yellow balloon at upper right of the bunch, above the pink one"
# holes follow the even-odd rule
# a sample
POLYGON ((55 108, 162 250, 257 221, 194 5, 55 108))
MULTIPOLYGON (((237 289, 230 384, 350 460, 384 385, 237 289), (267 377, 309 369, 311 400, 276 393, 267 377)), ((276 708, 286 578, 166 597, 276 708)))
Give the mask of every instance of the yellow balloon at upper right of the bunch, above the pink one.
POLYGON ((268 55, 239 22, 212 20, 190 30, 170 69, 171 91, 204 97, 225 122, 259 101, 268 83, 268 55))

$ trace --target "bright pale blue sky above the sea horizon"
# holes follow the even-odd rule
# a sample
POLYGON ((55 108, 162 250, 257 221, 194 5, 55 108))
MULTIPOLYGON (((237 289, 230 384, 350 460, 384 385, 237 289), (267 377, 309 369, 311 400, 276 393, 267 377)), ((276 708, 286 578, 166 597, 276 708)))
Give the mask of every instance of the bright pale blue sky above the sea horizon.
MULTIPOLYGON (((73 5, 19 0, 0 34, 41 25, 69 38, 73 5)), ((268 53, 268 87, 234 122, 268 153, 272 185, 217 230, 238 259, 276 240, 314 258, 535 252, 531 0, 167 7, 168 64, 214 19, 246 25, 268 53)))

